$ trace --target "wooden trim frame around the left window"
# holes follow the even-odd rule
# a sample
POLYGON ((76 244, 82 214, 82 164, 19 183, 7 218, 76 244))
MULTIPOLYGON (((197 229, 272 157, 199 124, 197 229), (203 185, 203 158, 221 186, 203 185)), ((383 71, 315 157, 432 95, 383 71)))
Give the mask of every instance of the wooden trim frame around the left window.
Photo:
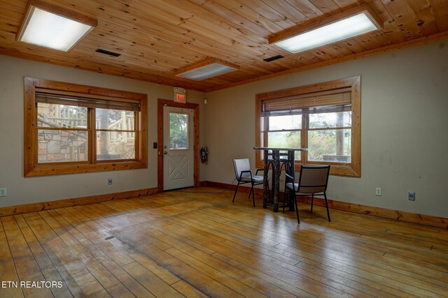
MULTIPOLYGON (((129 91, 118 91, 100 87, 90 87, 80 84, 56 82, 51 80, 41 80, 32 77, 25 77, 25 148, 24 148, 24 175, 25 177, 45 176, 54 174, 73 174, 83 172, 102 172, 111 170, 131 170, 148 167, 148 96, 129 91), (94 133, 90 133, 89 138, 89 161, 69 162, 69 163, 38 163, 38 140, 36 134, 36 89, 48 90, 57 93, 76 93, 85 97, 108 98, 109 100, 125 101, 127 99, 139 100, 140 112, 136 118, 136 149, 134 161, 96 161, 94 152, 94 133)), ((89 113, 90 123, 94 124, 92 117, 94 113, 89 113)), ((94 120, 94 119, 93 119, 94 120)), ((92 128, 90 128, 92 130, 92 128)))

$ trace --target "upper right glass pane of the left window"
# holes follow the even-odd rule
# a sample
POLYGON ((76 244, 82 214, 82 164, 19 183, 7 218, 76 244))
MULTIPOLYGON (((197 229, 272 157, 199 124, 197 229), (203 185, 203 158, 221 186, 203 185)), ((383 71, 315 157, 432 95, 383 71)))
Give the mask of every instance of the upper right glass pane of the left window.
POLYGON ((134 112, 123 110, 96 109, 97 129, 111 131, 134 131, 134 112))

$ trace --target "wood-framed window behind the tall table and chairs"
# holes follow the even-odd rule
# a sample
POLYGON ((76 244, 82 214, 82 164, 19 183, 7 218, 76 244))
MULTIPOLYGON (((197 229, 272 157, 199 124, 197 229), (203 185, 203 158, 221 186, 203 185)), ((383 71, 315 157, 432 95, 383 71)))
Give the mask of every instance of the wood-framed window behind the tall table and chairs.
POLYGON ((255 106, 257 146, 307 148, 295 153, 297 170, 330 164, 331 174, 360 177, 360 77, 257 94, 255 106))

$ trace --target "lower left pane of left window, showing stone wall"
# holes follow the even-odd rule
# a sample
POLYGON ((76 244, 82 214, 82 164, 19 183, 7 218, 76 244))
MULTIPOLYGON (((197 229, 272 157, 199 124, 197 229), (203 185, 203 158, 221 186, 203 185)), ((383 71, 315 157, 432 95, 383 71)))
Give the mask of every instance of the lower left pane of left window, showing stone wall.
POLYGON ((38 129, 38 162, 88 161, 87 131, 38 129))

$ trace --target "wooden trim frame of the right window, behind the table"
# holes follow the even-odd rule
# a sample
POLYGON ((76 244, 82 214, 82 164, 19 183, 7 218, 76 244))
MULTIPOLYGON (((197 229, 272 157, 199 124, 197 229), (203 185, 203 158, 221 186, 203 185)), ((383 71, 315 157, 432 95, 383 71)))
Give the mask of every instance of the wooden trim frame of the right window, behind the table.
MULTIPOLYGON (((261 106, 263 100, 283 98, 286 96, 297 96, 311 92, 339 89, 344 87, 351 88, 351 162, 350 163, 332 163, 307 161, 309 164, 330 164, 330 174, 338 176, 360 177, 361 175, 361 133, 360 133, 360 76, 349 77, 342 80, 310 84, 302 87, 270 91, 255 96, 255 146, 265 146, 264 131, 261 123, 261 106)), ((302 117, 303 121, 304 117, 302 117)), ((302 136, 306 133, 306 124, 302 123, 302 136)), ((307 140, 302 138, 302 140, 307 140)), ((308 144, 304 144, 308 147, 308 144)), ((255 165, 263 167, 261 151, 255 150, 255 165)), ((300 170, 300 163, 295 164, 295 170, 300 170)))

